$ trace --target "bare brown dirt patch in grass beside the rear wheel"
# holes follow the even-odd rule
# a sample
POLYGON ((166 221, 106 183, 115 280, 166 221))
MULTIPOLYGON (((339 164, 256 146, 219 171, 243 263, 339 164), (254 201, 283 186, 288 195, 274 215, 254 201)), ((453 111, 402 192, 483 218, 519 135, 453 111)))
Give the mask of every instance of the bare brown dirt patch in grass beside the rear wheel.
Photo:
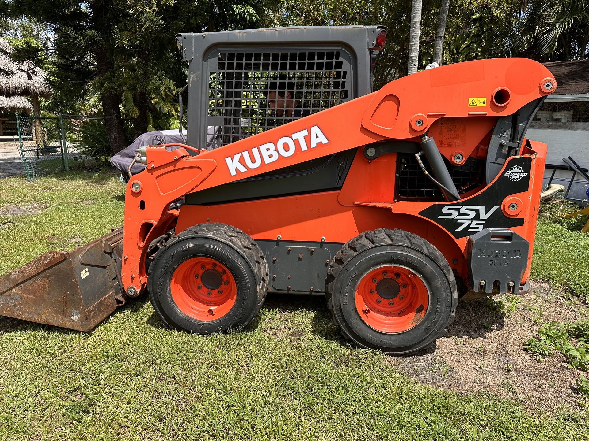
POLYGON ((489 300, 461 302, 456 320, 435 350, 389 357, 389 362, 420 382, 462 392, 489 391, 532 411, 580 406, 583 396, 574 387, 580 371, 567 369, 564 356, 556 351, 538 361, 524 350, 524 343, 541 323, 574 322, 586 317, 588 308, 544 282, 531 282, 530 292, 519 299, 517 304, 505 302, 512 305, 505 318, 489 300))

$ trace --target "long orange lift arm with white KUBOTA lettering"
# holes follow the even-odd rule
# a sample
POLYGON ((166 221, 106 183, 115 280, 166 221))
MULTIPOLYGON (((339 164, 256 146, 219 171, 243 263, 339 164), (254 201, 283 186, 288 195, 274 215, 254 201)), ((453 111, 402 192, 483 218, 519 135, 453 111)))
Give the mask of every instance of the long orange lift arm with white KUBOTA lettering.
POLYGON ((512 115, 555 86, 550 71, 530 59, 471 61, 403 77, 377 92, 213 151, 148 146, 147 169, 130 179, 125 196, 125 292, 135 296, 147 283, 147 248, 174 225, 177 211, 168 210, 170 203, 187 193, 375 141, 419 139, 439 118, 480 121, 512 115))

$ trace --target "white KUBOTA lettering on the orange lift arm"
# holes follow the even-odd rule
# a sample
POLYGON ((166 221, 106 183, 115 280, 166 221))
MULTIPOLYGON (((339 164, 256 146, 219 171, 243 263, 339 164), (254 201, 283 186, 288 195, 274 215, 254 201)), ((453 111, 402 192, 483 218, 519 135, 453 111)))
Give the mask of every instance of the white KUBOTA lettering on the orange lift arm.
POLYGON ((306 152, 309 149, 314 149, 319 144, 325 145, 328 142, 319 126, 312 126, 308 130, 305 129, 293 133, 290 136, 283 136, 276 144, 267 142, 259 147, 247 149, 233 156, 227 156, 225 162, 227 163, 231 176, 235 176, 238 172, 245 173, 249 170, 256 169, 262 163, 269 164, 274 162, 281 156, 282 158, 288 158, 294 155, 297 149, 301 152, 306 152))

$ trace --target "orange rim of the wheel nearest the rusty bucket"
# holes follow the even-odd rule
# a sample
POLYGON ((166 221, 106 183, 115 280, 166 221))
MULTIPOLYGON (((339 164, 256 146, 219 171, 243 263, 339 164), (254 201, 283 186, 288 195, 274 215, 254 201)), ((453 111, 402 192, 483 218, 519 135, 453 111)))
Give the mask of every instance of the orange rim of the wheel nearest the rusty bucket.
POLYGON ((172 275, 170 289, 178 309, 203 322, 229 313, 237 296, 237 284, 229 269, 206 257, 182 262, 172 275))

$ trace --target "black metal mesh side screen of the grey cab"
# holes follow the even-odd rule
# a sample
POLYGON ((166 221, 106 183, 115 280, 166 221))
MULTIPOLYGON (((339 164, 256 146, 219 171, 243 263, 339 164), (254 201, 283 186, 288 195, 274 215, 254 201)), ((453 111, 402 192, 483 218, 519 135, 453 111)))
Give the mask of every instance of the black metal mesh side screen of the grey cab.
POLYGON ((207 149, 353 98, 350 56, 343 49, 221 49, 207 66, 207 149))

